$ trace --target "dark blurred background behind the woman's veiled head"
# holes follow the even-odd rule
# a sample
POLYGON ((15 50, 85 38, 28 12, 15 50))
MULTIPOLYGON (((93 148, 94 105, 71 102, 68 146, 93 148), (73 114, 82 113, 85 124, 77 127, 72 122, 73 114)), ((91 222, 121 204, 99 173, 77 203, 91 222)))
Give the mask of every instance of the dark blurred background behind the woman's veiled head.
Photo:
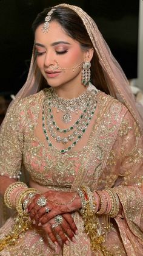
POLYGON ((142 97, 142 0, 0 0, 0 123, 12 100, 10 94, 19 91, 28 74, 33 48, 33 20, 45 7, 62 2, 79 5, 95 20, 130 80, 134 93, 142 97))

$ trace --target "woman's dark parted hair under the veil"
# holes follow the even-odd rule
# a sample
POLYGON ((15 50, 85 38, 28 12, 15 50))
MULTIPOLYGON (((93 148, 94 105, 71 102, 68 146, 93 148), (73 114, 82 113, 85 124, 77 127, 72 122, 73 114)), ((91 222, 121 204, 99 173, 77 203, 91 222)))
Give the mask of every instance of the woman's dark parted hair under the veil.
MULTIPOLYGON (((45 22, 45 17, 50 10, 51 8, 47 8, 38 14, 32 24, 32 30, 34 34, 37 27, 45 22)), ((68 7, 56 7, 56 10, 51 15, 50 21, 58 22, 71 38, 80 43, 81 49, 83 51, 87 51, 87 49, 93 47, 87 30, 85 29, 84 23, 74 10, 71 10, 68 7)), ((91 82, 93 85, 96 85, 99 90, 105 91, 105 93, 109 94, 104 73, 99 63, 98 55, 95 51, 91 60, 91 82)), ((43 87, 43 85, 41 86, 43 87)))

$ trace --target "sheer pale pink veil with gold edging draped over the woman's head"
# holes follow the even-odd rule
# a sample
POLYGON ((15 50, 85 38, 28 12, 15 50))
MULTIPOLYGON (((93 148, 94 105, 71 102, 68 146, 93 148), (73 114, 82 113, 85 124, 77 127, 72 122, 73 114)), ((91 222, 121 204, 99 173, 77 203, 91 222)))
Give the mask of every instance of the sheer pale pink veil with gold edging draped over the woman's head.
MULTIPOLYGON (((84 12, 84 10, 82 10, 80 7, 69 4, 59 4, 56 5, 55 8, 59 6, 70 8, 81 17, 85 28, 87 29, 88 35, 91 39, 91 42, 93 43, 93 47, 98 54, 99 63, 101 64, 101 67, 104 71, 105 80, 107 82, 108 90, 110 91, 111 96, 126 105, 131 115, 133 115, 136 122, 139 124, 140 129, 142 130, 143 107, 136 104, 133 93, 130 90, 127 77, 125 77, 121 66, 119 66, 119 63, 111 54, 111 51, 108 48, 108 45, 102 37, 101 33, 99 32, 95 21, 93 21, 93 19, 88 16, 88 14, 84 12)), ((24 86, 18 92, 18 94, 16 94, 15 100, 13 100, 9 105, 7 115, 13 111, 15 105, 19 102, 20 99, 25 98, 26 96, 30 96, 31 94, 34 94, 39 90, 40 81, 41 74, 39 72, 38 66, 36 65, 33 49, 32 60, 27 80, 24 86)), ((5 120, 3 123, 5 123, 5 120)))

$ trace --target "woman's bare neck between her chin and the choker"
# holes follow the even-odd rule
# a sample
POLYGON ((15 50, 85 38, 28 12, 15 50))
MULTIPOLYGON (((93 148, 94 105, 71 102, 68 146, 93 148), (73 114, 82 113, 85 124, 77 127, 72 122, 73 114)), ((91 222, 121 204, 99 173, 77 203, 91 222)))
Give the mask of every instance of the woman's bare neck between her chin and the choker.
POLYGON ((82 84, 75 84, 73 86, 62 85, 54 88, 60 98, 73 99, 78 98, 79 95, 87 91, 87 87, 82 84))

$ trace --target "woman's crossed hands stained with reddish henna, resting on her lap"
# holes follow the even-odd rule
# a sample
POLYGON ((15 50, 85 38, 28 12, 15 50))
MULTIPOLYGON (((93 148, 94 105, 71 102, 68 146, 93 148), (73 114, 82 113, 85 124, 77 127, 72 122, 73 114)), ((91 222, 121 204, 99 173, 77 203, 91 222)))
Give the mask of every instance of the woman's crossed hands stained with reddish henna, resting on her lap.
POLYGON ((57 234, 65 244, 69 244, 68 238, 75 242, 74 233, 77 235, 78 229, 71 217, 71 213, 79 208, 81 208, 81 200, 75 192, 47 191, 43 194, 36 194, 33 201, 28 205, 27 210, 32 221, 34 221, 36 225, 41 226, 52 242, 58 245, 57 234), (37 204, 41 196, 47 199, 47 203, 44 207, 39 207, 37 204), (72 201, 74 197, 75 199, 72 201), (70 201, 71 203, 68 204, 70 201), (47 207, 50 212, 46 213, 45 207, 47 207), (55 216, 57 215, 62 215, 62 224, 52 229, 52 225, 55 224, 55 216))

